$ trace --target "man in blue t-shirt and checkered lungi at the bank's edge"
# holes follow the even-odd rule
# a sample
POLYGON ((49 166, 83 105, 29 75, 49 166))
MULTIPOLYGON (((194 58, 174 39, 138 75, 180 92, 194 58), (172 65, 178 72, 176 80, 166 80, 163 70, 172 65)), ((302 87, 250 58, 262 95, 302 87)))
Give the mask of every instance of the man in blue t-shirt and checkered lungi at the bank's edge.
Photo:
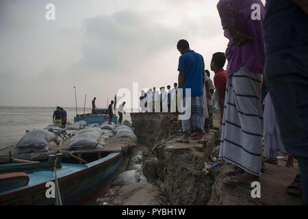
MULTIPOLYGON (((183 88, 183 102, 185 103, 185 89, 191 90, 190 118, 182 120, 184 136, 181 142, 189 143, 188 131, 191 127, 198 127, 198 143, 204 143, 204 104, 203 104, 203 72, 205 64, 202 55, 190 50, 187 40, 179 40, 177 50, 181 53, 179 57, 179 88, 183 88)), ((185 103, 187 105, 189 103, 185 103)), ((188 110, 188 109, 186 109, 188 110)), ((185 112, 187 113, 187 112, 185 112)))

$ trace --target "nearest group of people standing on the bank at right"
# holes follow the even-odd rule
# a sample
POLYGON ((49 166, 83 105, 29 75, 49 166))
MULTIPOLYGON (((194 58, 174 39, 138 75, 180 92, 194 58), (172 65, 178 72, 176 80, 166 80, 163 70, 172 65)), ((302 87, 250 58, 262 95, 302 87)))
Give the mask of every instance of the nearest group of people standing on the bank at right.
MULTIPOLYGON (((296 157, 300 176, 294 181, 300 181, 298 189, 307 205, 307 1, 268 0, 264 8, 260 0, 220 0, 217 8, 229 44, 225 54, 214 53, 211 59, 221 125, 220 161, 212 167, 234 164, 236 170, 228 173, 225 183, 251 188, 265 170, 265 136, 266 162, 277 164, 280 152, 290 155, 287 166, 292 166, 292 157, 296 157), (254 4, 259 5, 259 11, 251 9, 254 4)), ((181 53, 179 88, 183 88, 184 96, 185 88, 191 89, 191 116, 182 120, 180 141, 188 143, 192 127, 196 127, 198 142, 202 143, 205 118, 211 120, 207 115, 211 106, 206 110, 205 101, 211 99, 213 88, 209 89, 203 56, 191 50, 187 40, 179 40, 177 49, 181 53)))

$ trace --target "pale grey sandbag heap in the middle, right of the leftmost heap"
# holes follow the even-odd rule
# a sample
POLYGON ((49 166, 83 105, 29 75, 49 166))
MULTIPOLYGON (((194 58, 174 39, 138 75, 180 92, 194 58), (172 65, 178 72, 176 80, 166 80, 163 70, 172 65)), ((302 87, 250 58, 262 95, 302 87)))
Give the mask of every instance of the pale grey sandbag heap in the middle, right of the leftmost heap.
POLYGON ((105 141, 101 138, 101 129, 84 129, 79 131, 77 136, 73 136, 68 144, 70 150, 103 149, 105 141), (100 131, 99 131, 100 130, 100 131))

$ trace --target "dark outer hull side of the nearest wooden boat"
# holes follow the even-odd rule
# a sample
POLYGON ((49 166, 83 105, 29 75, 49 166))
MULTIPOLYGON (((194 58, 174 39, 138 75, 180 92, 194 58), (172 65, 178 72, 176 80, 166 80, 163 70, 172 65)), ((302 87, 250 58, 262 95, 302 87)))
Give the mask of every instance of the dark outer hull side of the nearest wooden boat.
MULTIPOLYGON (((81 204, 95 191, 108 183, 123 160, 123 153, 112 153, 86 168, 58 177, 63 205, 81 204)), ((63 164, 65 165, 65 164, 63 164)), ((78 165, 78 164, 76 164, 78 165)), ((55 181, 54 177, 53 180, 55 181)), ((46 182, 31 187, 0 194, 0 205, 55 205, 55 198, 47 198, 46 182)))

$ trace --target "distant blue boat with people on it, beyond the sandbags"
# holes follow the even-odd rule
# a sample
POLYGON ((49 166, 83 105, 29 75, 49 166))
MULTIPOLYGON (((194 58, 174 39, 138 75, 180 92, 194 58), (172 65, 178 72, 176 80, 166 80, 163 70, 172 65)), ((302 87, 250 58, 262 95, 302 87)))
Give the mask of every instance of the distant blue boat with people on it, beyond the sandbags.
MULTIPOLYGON (((84 120, 88 123, 88 125, 93 123, 105 123, 108 122, 110 119, 109 115, 107 114, 107 109, 99 109, 97 110, 97 114, 78 114, 74 117, 74 123, 84 120)), ((112 123, 118 123, 118 116, 112 117, 112 123)))

